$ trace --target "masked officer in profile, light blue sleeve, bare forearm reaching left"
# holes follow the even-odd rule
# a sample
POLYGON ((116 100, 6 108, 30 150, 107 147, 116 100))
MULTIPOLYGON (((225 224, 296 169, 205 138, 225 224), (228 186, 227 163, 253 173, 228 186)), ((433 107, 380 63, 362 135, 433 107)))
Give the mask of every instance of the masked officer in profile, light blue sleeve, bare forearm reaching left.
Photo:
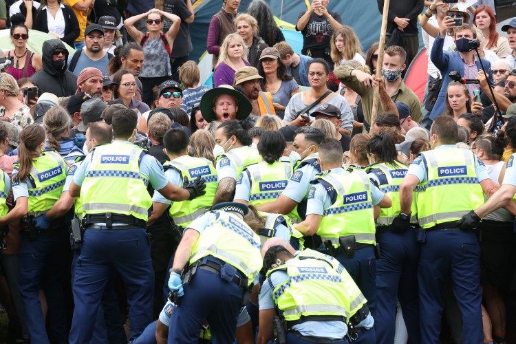
POLYGON ((293 155, 298 155, 297 164, 294 166, 294 173, 288 181, 286 189, 274 202, 262 204, 259 211, 266 213, 279 213, 287 215, 297 208, 300 218, 305 215, 305 201, 315 175, 321 172, 319 166, 318 151, 319 144, 324 139, 324 133, 314 127, 301 127, 298 129, 294 142, 292 143, 293 155))

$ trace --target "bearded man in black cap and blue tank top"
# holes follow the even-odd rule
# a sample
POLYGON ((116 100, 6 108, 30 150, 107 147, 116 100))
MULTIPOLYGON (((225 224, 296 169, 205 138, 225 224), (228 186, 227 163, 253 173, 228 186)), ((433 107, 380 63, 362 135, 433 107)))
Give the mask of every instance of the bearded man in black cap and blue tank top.
POLYGON ((75 75, 87 67, 95 67, 107 75, 107 64, 113 55, 103 50, 104 29, 98 24, 91 24, 84 32, 84 43, 86 49, 77 50, 68 61, 68 69, 75 75))

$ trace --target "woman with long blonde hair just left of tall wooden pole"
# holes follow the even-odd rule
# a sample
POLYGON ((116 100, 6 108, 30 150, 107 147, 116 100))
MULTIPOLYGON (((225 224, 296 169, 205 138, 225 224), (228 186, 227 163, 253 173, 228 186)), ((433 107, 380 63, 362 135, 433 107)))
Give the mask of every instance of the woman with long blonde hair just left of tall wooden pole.
POLYGON ((365 65, 364 52, 356 33, 347 25, 342 25, 333 32, 330 41, 330 56, 338 67, 345 61, 354 60, 365 65))

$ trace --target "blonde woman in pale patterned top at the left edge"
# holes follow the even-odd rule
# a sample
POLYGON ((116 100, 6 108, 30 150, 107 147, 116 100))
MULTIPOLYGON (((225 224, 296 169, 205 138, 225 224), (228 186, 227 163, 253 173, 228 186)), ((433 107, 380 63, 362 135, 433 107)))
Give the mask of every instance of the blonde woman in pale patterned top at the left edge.
POLYGON ((18 100, 20 88, 12 75, 0 74, 0 117, 9 118, 9 122, 24 128, 34 122, 30 108, 18 100))

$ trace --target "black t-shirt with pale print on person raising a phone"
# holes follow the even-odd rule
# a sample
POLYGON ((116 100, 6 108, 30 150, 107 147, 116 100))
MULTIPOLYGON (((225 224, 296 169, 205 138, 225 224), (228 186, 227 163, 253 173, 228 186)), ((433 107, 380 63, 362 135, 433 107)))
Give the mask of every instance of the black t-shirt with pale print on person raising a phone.
MULTIPOLYGON (((338 23, 342 24, 341 14, 336 12, 330 12, 330 15, 338 21, 338 23)), ((297 20, 303 17, 305 12, 299 13, 297 20)), ((297 27, 296 27, 297 30, 297 27)), ((303 50, 301 52, 303 55, 308 55, 308 50, 314 50, 314 52, 323 51, 327 48, 328 54, 330 52, 330 40, 332 39, 333 29, 330 22, 324 16, 319 16, 315 12, 312 13, 310 19, 308 20, 308 24, 306 24, 305 28, 301 30, 301 34, 303 34, 303 50)), ((319 56, 312 52, 312 57, 323 57, 319 56)))

